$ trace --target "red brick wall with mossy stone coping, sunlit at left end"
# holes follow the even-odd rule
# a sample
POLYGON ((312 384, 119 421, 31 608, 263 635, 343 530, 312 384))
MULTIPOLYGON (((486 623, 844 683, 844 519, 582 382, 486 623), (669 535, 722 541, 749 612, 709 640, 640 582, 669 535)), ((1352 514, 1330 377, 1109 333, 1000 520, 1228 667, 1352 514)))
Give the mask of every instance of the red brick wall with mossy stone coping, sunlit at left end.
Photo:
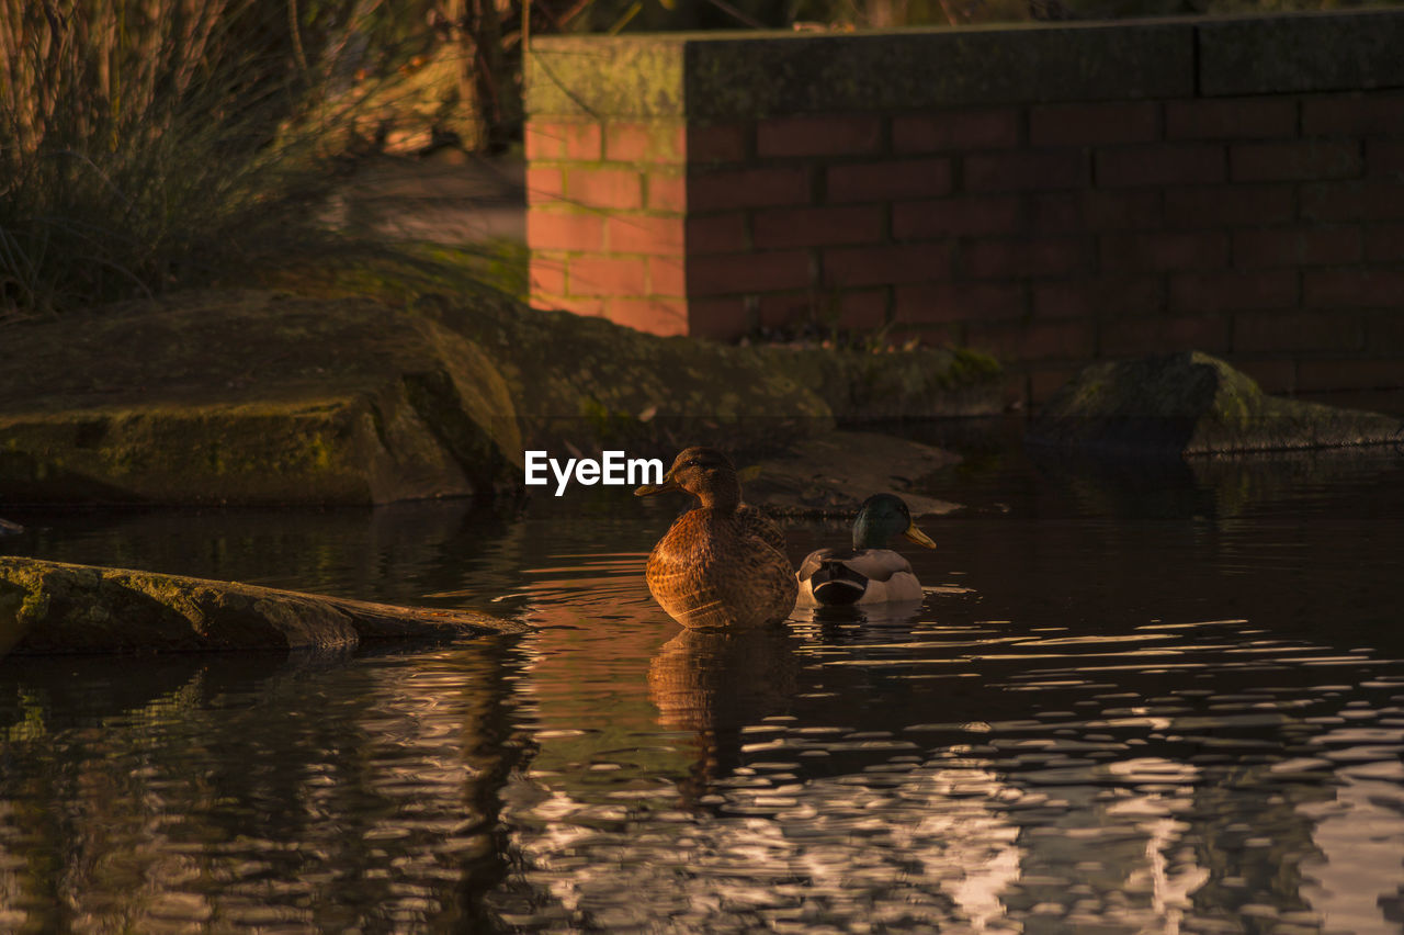
POLYGON ((1404 13, 534 49, 538 305, 1404 387, 1404 13))

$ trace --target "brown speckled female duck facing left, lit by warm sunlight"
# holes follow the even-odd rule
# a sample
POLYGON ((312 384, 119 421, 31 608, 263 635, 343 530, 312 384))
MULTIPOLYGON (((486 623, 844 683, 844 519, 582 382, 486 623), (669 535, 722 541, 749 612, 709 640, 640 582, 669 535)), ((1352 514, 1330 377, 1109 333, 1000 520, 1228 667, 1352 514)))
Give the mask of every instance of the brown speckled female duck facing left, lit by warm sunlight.
POLYGON ((649 591, 668 616, 688 628, 750 628, 789 616, 799 584, 785 557, 785 536, 741 503, 731 460, 715 448, 688 448, 661 484, 633 493, 649 497, 664 490, 684 490, 701 501, 649 555, 649 591))

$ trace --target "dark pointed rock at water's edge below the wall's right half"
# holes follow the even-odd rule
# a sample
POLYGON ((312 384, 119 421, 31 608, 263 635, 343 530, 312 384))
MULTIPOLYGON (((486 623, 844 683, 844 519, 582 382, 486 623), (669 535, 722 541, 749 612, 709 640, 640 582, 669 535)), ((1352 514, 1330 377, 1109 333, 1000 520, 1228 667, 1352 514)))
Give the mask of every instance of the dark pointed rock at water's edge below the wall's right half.
POLYGON ((1025 439, 1104 455, 1214 455, 1398 444, 1404 421, 1268 396, 1223 361, 1185 351, 1084 368, 1025 439))

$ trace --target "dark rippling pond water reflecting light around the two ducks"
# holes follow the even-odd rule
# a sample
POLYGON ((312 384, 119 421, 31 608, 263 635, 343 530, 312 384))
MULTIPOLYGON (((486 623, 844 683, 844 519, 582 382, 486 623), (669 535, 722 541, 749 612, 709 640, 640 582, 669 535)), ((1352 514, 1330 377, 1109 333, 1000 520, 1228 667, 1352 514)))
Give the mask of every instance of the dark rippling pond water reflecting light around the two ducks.
POLYGON ((921 605, 747 637, 657 609, 681 501, 625 490, 7 510, 10 553, 539 629, 4 660, 0 931, 1404 931, 1397 453, 929 489, 921 605))

